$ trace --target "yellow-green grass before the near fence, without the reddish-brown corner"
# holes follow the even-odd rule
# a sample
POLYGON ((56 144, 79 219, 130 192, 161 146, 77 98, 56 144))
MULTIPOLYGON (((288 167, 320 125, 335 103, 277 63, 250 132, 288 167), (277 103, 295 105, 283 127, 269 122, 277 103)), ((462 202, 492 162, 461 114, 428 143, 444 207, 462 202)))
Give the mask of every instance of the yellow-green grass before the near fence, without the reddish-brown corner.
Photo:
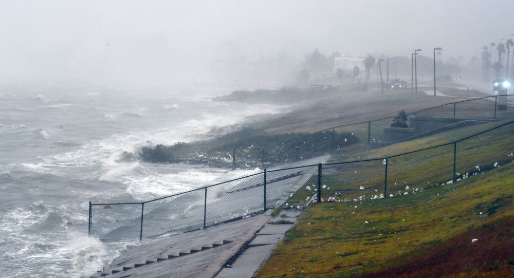
MULTIPOLYGON (((257 276, 340 277, 401 268, 411 258, 443 250, 467 231, 514 219, 513 173, 509 163, 415 195, 310 206, 257 276)), ((504 245, 514 245, 514 233, 507 234, 504 245)), ((514 249, 499 255, 499 264, 506 265, 508 256, 514 257, 514 249)), ((493 263, 486 260, 484 266, 493 263)), ((468 267, 482 271, 482 266, 468 267)))

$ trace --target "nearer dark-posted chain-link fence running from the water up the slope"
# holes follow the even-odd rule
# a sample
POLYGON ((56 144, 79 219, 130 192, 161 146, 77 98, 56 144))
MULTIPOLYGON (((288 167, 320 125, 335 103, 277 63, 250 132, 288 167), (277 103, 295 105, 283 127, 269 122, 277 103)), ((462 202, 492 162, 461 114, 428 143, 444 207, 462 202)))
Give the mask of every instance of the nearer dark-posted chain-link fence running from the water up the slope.
POLYGON ((104 240, 156 238, 258 214, 342 201, 415 194, 512 162, 514 121, 466 138, 376 159, 255 173, 144 202, 89 203, 89 234, 104 240))

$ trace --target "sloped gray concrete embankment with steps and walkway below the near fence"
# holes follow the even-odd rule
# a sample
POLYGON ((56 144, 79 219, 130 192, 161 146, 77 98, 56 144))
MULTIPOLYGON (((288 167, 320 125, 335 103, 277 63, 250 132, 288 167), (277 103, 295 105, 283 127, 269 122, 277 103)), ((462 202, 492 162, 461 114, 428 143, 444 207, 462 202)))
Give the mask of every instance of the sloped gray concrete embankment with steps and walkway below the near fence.
POLYGON ((89 277, 251 277, 301 214, 271 211, 130 247, 89 277))

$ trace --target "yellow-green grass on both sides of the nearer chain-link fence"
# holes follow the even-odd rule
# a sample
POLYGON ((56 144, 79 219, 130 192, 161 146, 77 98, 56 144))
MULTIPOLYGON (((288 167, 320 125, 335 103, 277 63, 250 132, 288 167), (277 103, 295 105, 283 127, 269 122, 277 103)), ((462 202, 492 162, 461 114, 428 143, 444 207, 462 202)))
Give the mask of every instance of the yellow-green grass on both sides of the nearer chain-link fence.
MULTIPOLYGON (((380 157, 412 151, 453 141, 497 124, 395 144, 369 150, 366 154, 380 157)), ((425 276, 433 276, 431 269, 455 277, 481 276, 484 273, 487 275, 483 276, 500 277, 512 273, 509 272, 513 269, 509 262, 514 260, 514 233, 510 229, 495 235, 494 231, 501 229, 486 229, 489 226, 499 227, 501 223, 512 222, 514 225, 514 163, 508 163, 512 157, 507 156, 512 152, 512 135, 512 129, 506 127, 457 144, 456 172, 462 176, 467 171, 476 171, 476 164, 480 164, 481 171, 478 175, 452 184, 442 184, 453 175, 452 145, 440 152, 432 150, 391 159, 388 192, 406 192, 408 185, 411 188, 407 191, 409 195, 369 199, 373 194, 383 192, 382 161, 373 162, 375 164, 343 164, 344 167, 335 167, 330 174, 324 172, 322 181, 326 188, 322 196, 325 198, 337 192, 343 193, 341 198, 348 199, 363 192, 368 195, 363 201, 323 202, 307 207, 299 223, 288 232, 256 276, 381 277, 405 272, 405 276, 416 277, 416 272, 409 270, 406 262, 416 265, 421 271, 418 274, 427 273, 425 276), (496 161, 499 161, 500 168, 493 167, 496 161), (365 190, 358 189, 361 185, 365 190), (415 188, 425 190, 412 194, 415 188), (487 243, 482 246, 484 250, 499 255, 489 256, 483 263, 476 263, 476 257, 470 257, 469 264, 457 263, 458 260, 466 262, 467 256, 473 254, 484 257, 483 252, 475 250, 459 253, 462 257, 458 260, 447 258, 452 262, 449 265, 437 263, 440 260, 436 258, 448 250, 465 250, 455 246, 467 244, 471 240, 467 237, 473 233, 483 234, 485 238, 490 238, 490 242, 503 242, 492 245, 498 250, 486 248, 487 243), (511 251, 502 249, 502 246, 512 246, 511 251), (423 254, 426 257, 421 256, 423 254), (432 262, 432 268, 424 267, 423 262, 432 262), (387 272, 391 269, 395 269, 395 272, 387 272)), ((329 170, 326 166, 323 169, 329 170)), ((307 184, 317 184, 317 176, 313 176, 307 184)), ((300 202, 313 194, 314 191, 301 188, 288 202, 300 202)))

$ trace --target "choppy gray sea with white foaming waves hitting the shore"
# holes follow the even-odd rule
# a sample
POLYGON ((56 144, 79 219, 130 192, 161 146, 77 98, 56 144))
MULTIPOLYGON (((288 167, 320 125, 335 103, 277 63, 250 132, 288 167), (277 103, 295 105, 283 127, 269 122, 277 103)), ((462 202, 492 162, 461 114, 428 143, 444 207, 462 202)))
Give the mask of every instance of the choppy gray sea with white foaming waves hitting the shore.
POLYGON ((87 236, 88 202, 173 194, 246 174, 120 162, 152 143, 201 138, 272 105, 210 101, 230 91, 0 87, 0 277, 77 277, 128 244, 87 236))

